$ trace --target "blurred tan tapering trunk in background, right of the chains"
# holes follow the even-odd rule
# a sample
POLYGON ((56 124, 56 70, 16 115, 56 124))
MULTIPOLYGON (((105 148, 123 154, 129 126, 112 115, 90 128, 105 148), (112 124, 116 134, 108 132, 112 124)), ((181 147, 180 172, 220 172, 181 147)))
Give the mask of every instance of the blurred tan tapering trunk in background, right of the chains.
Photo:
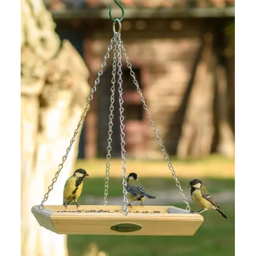
POLYGON ((204 37, 205 48, 196 70, 194 85, 187 106, 177 155, 201 157, 211 153, 214 124, 213 99, 216 58, 212 52, 211 33, 204 37))

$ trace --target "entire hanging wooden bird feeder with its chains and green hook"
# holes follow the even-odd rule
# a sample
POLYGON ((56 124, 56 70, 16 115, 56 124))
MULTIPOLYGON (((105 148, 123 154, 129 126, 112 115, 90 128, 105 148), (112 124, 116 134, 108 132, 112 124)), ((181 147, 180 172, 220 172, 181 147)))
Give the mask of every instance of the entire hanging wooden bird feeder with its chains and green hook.
POLYGON ((146 105, 145 98, 142 96, 141 89, 135 77, 135 73, 132 71, 132 64, 129 61, 128 54, 124 48, 124 43, 121 40, 121 21, 124 18, 124 9, 115 0, 115 3, 122 9, 122 18, 114 19, 111 15, 112 5, 110 7, 110 18, 114 22, 113 31, 114 36, 110 41, 110 46, 107 49, 102 68, 98 73, 98 77, 95 80, 94 87, 88 97, 88 103, 85 106, 84 113, 81 115, 79 124, 74 132, 74 136, 71 139, 70 145, 66 150, 66 154, 62 158, 62 163, 59 165, 58 171, 53 178, 53 183, 49 186, 48 192, 45 194, 44 199, 40 205, 33 206, 31 211, 34 214, 38 223, 57 234, 95 234, 95 235, 152 235, 152 236, 190 236, 194 235, 200 225, 203 223, 203 216, 200 214, 190 214, 190 205, 185 197, 184 191, 181 188, 181 184, 178 181, 177 175, 173 169, 172 163, 163 146, 162 139, 159 137, 159 132, 155 127, 155 123, 150 115, 149 108, 146 105), (116 30, 118 26, 118 30, 116 30), (75 138, 79 132, 79 128, 83 124, 85 115, 90 107, 90 103, 93 100, 93 94, 96 92, 97 85, 100 83, 100 77, 103 74, 103 70, 106 67, 106 62, 110 57, 110 52, 113 50, 113 78, 111 80, 112 95, 110 97, 110 115, 109 115, 109 138, 107 140, 107 161, 106 161, 106 181, 105 181, 105 193, 104 193, 104 205, 81 205, 78 209, 75 205, 69 205, 66 209, 63 205, 44 205, 49 197, 49 193, 53 190, 53 185, 57 181, 63 165, 68 157, 71 147, 75 141, 75 138), (186 209, 181 209, 173 206, 128 206, 127 199, 127 175, 126 175, 126 159, 125 159, 125 133, 124 133, 124 107, 123 107, 123 80, 122 80, 122 53, 124 54, 127 62, 130 75, 133 78, 134 85, 137 88, 137 92, 140 95, 143 102, 144 109, 146 110, 147 117, 150 119, 150 124, 154 130, 157 141, 160 145, 160 149, 163 151, 164 159, 168 163, 168 168, 172 173, 172 177, 176 181, 176 185, 179 188, 179 193, 183 197, 183 201, 186 204, 186 209), (110 175, 110 158, 111 158, 111 142, 112 142, 112 127, 114 118, 114 102, 115 102, 115 84, 116 75, 118 77, 119 85, 119 113, 120 113, 120 131, 121 131, 121 155, 122 155, 122 176, 123 176, 123 194, 124 194, 124 206, 109 206, 107 205, 107 196, 109 188, 109 175, 110 175))

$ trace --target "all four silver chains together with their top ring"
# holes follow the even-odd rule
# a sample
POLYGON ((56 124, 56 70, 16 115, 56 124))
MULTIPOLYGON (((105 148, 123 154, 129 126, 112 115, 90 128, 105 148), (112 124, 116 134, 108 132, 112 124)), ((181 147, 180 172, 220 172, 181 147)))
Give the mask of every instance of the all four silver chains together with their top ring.
POLYGON ((52 184, 48 187, 48 192, 44 195, 44 199, 41 202, 41 204, 39 206, 39 209, 40 210, 44 209, 44 203, 47 201, 47 199, 49 197, 49 193, 53 190, 53 185, 57 181, 57 178, 58 178, 58 176, 59 176, 59 174, 60 174, 60 172, 61 172, 61 170, 64 166, 64 163, 66 162, 66 159, 67 159, 68 154, 69 154, 69 152, 72 148, 72 145, 75 142, 75 137, 79 133, 79 128, 83 124, 86 113, 87 113, 87 111, 90 107, 90 102, 93 100, 93 94, 96 92, 97 85, 100 83, 100 77, 102 76, 103 70, 106 67, 106 62, 107 62, 108 58, 110 57, 110 51, 113 49, 113 44, 114 44, 115 49, 113 51, 114 52, 114 57, 113 57, 113 71, 112 71, 113 78, 111 80, 111 83, 112 83, 111 93, 112 93, 112 95, 111 95, 111 98, 110 98, 110 115, 109 115, 110 122, 109 122, 109 132, 108 132, 109 138, 108 138, 108 147, 107 147, 107 156, 106 156, 107 163, 106 163, 106 180, 105 180, 105 192, 104 192, 105 205, 107 204, 107 196, 108 196, 108 188, 109 188, 108 183, 109 183, 109 174, 110 174, 110 158, 111 158, 110 153, 111 153, 111 143, 112 143, 112 134, 113 134, 113 131, 112 131, 113 118, 114 118, 113 112, 114 112, 114 103, 115 103, 115 75, 116 75, 116 69, 117 69, 117 66, 118 66, 118 76, 119 76, 119 79, 118 79, 119 90, 118 91, 119 91, 119 112, 120 112, 120 132, 121 132, 121 154, 122 154, 122 169, 123 169, 122 175, 123 175, 123 194, 124 194, 124 214, 128 215, 128 199, 126 197, 127 196, 127 190, 126 190, 126 186, 127 186, 126 177, 127 176, 126 176, 126 166, 125 166, 126 150, 125 150, 125 141, 124 141, 124 137, 125 137, 124 127, 125 126, 124 126, 124 115, 123 115, 123 113, 124 113, 124 108, 123 108, 124 99, 123 99, 123 87, 122 87, 122 84, 123 84, 123 80, 122 80, 122 75, 123 75, 123 72, 122 72, 122 52, 123 52, 124 56, 125 56, 125 59, 126 59, 126 62, 127 62, 128 69, 130 70, 130 75, 133 78, 133 83, 135 84, 135 86, 137 88, 137 92, 140 94, 141 101, 144 104, 144 109, 146 110, 147 116, 150 119, 150 125, 154 129, 154 134, 156 135, 157 141, 160 145, 160 148, 163 151, 164 159, 167 161, 168 167, 172 172, 172 177, 175 179, 176 185, 179 187, 179 193, 183 196, 183 201, 187 205, 186 209, 188 211, 190 211, 191 207, 190 207, 190 205, 189 205, 189 203, 188 203, 188 201, 185 197, 184 191, 181 188, 181 184, 178 180, 176 172, 174 171, 172 163, 170 162, 170 159, 169 159, 169 156, 166 152, 166 149, 163 146, 163 141, 159 137, 159 132, 155 127, 155 123, 154 123, 154 121, 152 119, 152 116, 149 112, 148 106, 146 105, 145 98, 142 96, 142 92, 141 92, 141 89, 139 88, 139 84, 137 82, 135 73, 132 71, 132 64, 130 63, 129 58, 128 58, 128 54, 127 54, 127 52, 124 48, 124 43, 121 41, 121 38, 120 38, 121 22, 118 19, 116 19, 116 22, 114 22, 114 24, 113 24, 113 31, 114 31, 114 37, 111 39, 111 43, 110 43, 110 46, 108 47, 107 53, 104 57, 104 62, 102 63, 101 70, 98 73, 98 77, 95 80, 94 87, 92 88, 91 94, 88 97, 88 103, 85 106, 84 112, 81 115, 81 118, 80 118, 80 121, 77 125, 77 128, 75 129, 74 136, 72 137, 72 139, 70 141, 70 145, 66 149, 66 154, 62 157, 62 163, 58 166, 58 171, 56 172, 55 177, 53 178, 52 184), (119 24, 119 31, 118 32, 115 31, 115 24, 116 23, 119 24), (117 54, 117 58, 116 58, 116 54, 117 54))

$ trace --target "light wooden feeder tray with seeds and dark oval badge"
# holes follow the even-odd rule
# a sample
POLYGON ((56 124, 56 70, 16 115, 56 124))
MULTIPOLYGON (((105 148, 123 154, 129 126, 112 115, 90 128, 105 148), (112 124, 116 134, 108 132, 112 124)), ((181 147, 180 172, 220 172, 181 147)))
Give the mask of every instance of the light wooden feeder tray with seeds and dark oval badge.
POLYGON ((125 216, 122 206, 32 207, 38 223, 57 234, 192 236, 203 223, 202 215, 177 207, 133 206, 129 211, 125 216))

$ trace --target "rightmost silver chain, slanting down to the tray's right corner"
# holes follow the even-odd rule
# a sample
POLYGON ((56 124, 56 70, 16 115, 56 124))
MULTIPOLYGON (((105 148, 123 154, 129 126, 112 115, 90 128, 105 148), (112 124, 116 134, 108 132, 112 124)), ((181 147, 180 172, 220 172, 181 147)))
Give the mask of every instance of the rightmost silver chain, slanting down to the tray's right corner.
POLYGON ((163 146, 163 141, 162 141, 162 139, 161 139, 160 136, 159 136, 159 132, 158 132, 157 128, 155 127, 155 123, 154 123, 154 121, 153 121, 153 119, 152 119, 152 115, 151 115, 150 112, 149 112, 149 108, 148 108, 148 106, 146 105, 145 98, 142 96, 141 89, 139 88, 139 83, 138 83, 138 81, 137 81, 137 79, 136 79, 135 73, 132 71, 132 64, 131 64, 131 62, 129 61, 128 54, 127 54, 127 52, 126 52, 126 50, 125 50, 125 48, 124 48, 124 43, 123 43, 122 41, 121 41, 120 43, 121 43, 121 47, 122 47, 122 52, 124 53, 124 57, 125 57, 126 62, 127 62, 128 69, 130 70, 130 75, 131 75, 132 78, 133 78, 133 83, 136 85, 137 92, 138 92, 138 93, 140 94, 140 96, 141 96, 141 101, 143 102, 144 109, 146 110, 147 116, 148 116, 148 118, 150 119, 150 125, 151 125, 151 126, 153 127, 153 129, 154 129, 154 134, 156 135, 157 141, 158 141, 158 143, 159 143, 159 145, 160 145, 160 147, 161 147, 161 150, 163 151, 164 159, 167 161, 168 167, 169 167, 169 169, 170 169, 171 172, 172 172, 172 177, 173 177, 173 178, 175 179, 175 181, 176 181, 176 185, 177 185, 177 187, 179 188, 179 193, 183 196, 183 202, 187 205, 186 210, 187 210, 187 211, 190 211, 190 210, 191 210, 190 204, 189 204, 188 200, 187 200, 186 197, 185 197, 184 191, 183 191, 182 188, 181 188, 181 183, 180 183, 180 181, 178 180, 177 174, 176 174, 176 172, 174 171, 174 168, 173 168, 173 166, 172 166, 172 163, 170 162, 170 159, 169 159, 169 156, 168 156, 168 154, 167 154, 167 152, 166 152, 166 149, 165 149, 165 147, 163 146))

